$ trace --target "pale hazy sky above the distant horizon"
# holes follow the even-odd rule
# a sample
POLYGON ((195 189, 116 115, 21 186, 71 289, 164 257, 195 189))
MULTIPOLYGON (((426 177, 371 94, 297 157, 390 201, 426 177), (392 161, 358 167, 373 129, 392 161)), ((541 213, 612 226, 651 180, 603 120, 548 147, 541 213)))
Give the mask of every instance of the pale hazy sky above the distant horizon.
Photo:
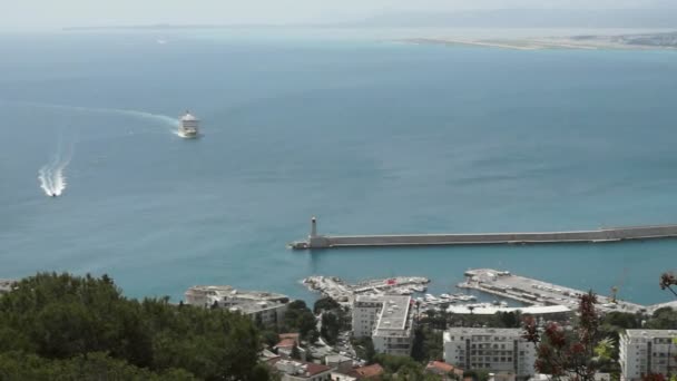
POLYGON ((147 23, 293 23, 393 11, 660 8, 677 0, 0 0, 1 29, 147 23))

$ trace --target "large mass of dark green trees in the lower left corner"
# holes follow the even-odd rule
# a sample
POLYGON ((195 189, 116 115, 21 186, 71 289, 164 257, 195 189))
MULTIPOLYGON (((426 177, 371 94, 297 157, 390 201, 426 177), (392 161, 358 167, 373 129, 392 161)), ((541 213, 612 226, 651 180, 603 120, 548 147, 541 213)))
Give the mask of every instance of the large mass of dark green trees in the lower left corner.
MULTIPOLYGON (((258 380, 259 348, 246 316, 179 307, 167 297, 128 300, 108 276, 38 274, 0 296, 0 354, 19 351, 48 370, 69 361, 95 367, 95 359, 104 369, 121 364, 133 373, 139 368, 205 380, 258 380)), ((27 367, 14 363, 19 371, 27 367)))

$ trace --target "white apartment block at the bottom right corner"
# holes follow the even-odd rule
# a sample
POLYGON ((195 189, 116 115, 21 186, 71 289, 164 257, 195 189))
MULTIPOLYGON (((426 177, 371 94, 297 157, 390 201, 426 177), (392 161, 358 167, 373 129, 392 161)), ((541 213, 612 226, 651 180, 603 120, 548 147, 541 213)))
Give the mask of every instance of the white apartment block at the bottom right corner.
POLYGON ((635 381, 648 373, 677 373, 675 338, 675 330, 626 330, 619 341, 618 362, 622 379, 635 381))

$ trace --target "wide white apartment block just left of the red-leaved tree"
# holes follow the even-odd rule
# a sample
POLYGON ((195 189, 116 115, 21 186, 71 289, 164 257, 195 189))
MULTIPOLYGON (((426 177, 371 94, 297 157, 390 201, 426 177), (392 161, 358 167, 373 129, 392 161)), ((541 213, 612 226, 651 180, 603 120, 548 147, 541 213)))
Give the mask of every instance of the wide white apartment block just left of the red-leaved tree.
POLYGON ((452 328, 444 332, 444 361, 464 370, 536 373, 536 349, 521 329, 452 328))

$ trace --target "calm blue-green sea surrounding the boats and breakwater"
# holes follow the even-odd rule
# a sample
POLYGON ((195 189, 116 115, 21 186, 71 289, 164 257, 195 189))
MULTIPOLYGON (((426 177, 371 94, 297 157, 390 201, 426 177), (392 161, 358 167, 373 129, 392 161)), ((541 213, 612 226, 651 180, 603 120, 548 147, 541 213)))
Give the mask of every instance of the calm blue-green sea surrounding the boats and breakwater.
POLYGON ((442 292, 496 267, 670 300, 658 276, 677 241, 285 244, 312 215, 336 234, 676 223, 675 51, 227 30, 0 36, 0 277, 108 273, 177 301, 195 284, 311 297, 313 274, 424 275, 442 292), (186 108, 199 139, 174 134, 186 108), (67 164, 58 198, 38 180, 49 163, 67 164))

